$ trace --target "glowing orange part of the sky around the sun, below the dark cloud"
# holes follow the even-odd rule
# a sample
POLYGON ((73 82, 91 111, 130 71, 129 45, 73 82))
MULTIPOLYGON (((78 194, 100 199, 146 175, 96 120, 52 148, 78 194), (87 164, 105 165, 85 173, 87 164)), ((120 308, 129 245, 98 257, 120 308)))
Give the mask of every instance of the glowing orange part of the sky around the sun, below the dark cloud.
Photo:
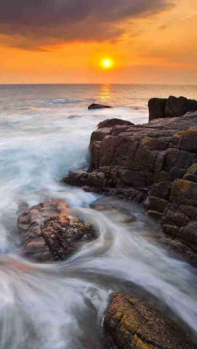
POLYGON ((35 39, 2 29, 0 84, 196 84, 197 1, 171 2, 175 6, 157 13, 116 21, 121 34, 113 39, 62 40, 57 36, 49 40, 42 32, 35 39), (105 57, 114 61, 113 68, 101 67, 105 57))

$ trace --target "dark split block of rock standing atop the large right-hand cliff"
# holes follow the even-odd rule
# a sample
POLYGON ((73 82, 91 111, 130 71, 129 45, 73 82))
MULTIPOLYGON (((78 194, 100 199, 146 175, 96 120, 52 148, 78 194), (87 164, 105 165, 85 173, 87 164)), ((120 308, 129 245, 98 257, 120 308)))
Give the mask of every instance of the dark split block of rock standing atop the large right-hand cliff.
POLYGON ((149 121, 160 118, 183 116, 189 111, 197 110, 197 101, 186 97, 169 96, 168 98, 151 98, 148 101, 149 121))

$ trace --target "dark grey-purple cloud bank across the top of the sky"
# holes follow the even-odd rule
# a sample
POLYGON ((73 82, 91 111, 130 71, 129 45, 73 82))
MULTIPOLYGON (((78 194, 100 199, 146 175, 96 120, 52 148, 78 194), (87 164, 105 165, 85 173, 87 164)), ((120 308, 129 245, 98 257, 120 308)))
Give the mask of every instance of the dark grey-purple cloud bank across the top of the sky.
POLYGON ((126 18, 172 6, 168 0, 2 0, 0 33, 7 45, 35 49, 46 44, 114 40, 126 18), (12 37, 10 39, 10 37, 12 37))

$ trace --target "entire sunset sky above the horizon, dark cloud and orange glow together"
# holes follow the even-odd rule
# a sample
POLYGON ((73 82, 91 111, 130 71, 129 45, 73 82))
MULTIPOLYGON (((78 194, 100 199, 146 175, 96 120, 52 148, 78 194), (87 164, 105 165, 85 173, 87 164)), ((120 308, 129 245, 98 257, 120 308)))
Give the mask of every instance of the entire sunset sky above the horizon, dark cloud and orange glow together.
POLYGON ((0 84, 197 84, 196 62, 196 0, 1 3, 0 84))

